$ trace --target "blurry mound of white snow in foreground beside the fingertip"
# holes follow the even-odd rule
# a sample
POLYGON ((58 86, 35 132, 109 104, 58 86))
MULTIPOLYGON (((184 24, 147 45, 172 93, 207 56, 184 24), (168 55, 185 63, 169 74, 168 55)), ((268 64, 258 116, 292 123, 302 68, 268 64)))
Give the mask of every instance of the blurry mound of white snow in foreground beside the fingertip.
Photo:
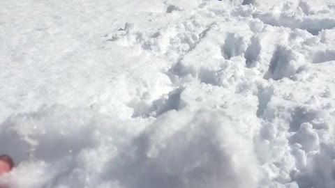
POLYGON ((13 116, 1 151, 13 187, 256 187, 252 142, 224 113, 171 111, 140 125, 54 106, 13 116), (31 172, 30 172, 31 171, 31 172))

